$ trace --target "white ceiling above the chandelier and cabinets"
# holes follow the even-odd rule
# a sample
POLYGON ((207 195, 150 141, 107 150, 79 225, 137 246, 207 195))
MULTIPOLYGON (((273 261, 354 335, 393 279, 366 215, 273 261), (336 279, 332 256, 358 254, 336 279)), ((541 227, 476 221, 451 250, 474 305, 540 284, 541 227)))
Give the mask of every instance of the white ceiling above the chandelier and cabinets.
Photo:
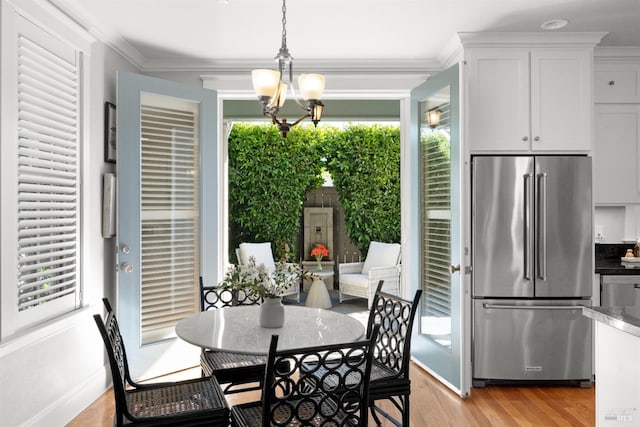
MULTIPOLYGON (((281 0, 48 0, 142 71, 272 66, 281 0)), ((298 70, 437 69, 459 32, 604 31, 599 46, 640 47, 640 0, 289 0, 298 70)), ((297 66, 296 66, 297 65, 297 66)))

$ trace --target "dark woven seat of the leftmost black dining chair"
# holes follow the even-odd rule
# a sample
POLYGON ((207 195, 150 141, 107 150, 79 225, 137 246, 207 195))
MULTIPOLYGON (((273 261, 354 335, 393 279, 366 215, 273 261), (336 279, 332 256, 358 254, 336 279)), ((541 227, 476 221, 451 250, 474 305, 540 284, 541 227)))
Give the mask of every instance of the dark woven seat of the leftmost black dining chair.
POLYGON ((169 423, 177 416, 183 425, 222 425, 228 417, 226 400, 215 378, 149 384, 127 391, 126 400, 129 413, 151 425, 169 423))

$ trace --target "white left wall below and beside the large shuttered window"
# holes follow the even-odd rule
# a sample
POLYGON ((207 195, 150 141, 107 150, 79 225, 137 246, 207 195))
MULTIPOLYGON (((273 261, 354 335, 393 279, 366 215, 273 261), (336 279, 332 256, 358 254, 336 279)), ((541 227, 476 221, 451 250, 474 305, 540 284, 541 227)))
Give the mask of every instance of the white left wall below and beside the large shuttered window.
MULTIPOLYGON (((3 13, 12 12, 2 1, 3 13)), ((92 46, 89 63, 89 138, 83 145, 82 176, 84 308, 0 342, 3 426, 64 425, 109 387, 104 345, 92 318, 102 313, 104 295, 115 296, 114 239, 101 236, 102 174, 114 170, 104 163, 103 111, 105 101, 115 102, 115 70, 136 69, 99 42, 92 46)))

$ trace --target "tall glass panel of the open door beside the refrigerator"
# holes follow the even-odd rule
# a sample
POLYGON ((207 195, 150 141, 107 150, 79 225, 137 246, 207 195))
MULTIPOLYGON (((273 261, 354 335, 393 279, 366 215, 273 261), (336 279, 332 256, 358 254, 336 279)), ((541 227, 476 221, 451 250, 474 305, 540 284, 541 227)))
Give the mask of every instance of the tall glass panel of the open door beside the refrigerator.
POLYGON ((422 303, 419 331, 451 348, 450 87, 420 102, 422 303))

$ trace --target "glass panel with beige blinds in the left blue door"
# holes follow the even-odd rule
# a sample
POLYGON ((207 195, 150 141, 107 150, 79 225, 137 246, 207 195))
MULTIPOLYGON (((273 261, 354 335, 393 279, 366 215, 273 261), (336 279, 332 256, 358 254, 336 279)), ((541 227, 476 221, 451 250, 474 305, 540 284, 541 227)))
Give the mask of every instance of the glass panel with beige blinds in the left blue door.
POLYGON ((141 112, 141 343, 174 335, 198 306, 199 105, 145 93, 141 112))

